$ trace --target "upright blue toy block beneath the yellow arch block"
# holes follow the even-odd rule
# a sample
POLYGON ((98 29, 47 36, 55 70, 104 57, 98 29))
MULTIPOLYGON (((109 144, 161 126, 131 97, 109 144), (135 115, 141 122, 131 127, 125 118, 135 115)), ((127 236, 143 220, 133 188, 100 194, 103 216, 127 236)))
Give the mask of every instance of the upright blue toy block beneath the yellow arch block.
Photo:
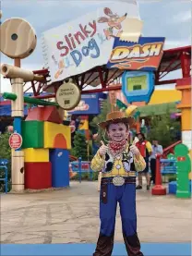
POLYGON ((69 152, 63 149, 50 150, 52 163, 52 187, 65 188, 69 186, 69 152))

